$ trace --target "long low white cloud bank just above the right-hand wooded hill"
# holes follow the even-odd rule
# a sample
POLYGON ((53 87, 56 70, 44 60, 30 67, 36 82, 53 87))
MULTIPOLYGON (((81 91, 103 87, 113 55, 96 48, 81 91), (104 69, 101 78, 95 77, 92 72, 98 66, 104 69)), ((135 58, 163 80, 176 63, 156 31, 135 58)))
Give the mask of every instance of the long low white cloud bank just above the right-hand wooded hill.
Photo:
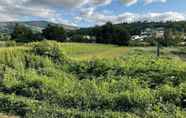
POLYGON ((186 15, 178 12, 164 12, 164 13, 128 13, 124 12, 119 15, 105 15, 99 12, 81 13, 81 19, 88 19, 97 22, 97 24, 104 24, 108 21, 113 23, 131 23, 137 21, 147 22, 166 22, 166 21, 183 21, 186 20, 186 15))

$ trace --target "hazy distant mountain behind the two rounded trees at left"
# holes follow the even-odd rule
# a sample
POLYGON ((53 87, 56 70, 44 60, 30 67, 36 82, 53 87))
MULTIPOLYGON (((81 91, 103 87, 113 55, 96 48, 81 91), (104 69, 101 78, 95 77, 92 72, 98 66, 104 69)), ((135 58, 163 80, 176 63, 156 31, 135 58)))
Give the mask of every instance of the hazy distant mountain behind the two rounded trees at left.
POLYGON ((10 33, 14 29, 16 24, 24 25, 26 27, 31 28, 35 32, 40 32, 42 29, 46 28, 50 25, 58 25, 63 26, 65 30, 76 30, 78 27, 64 25, 64 24, 56 24, 48 21, 25 21, 25 22, 0 22, 0 33, 10 33))

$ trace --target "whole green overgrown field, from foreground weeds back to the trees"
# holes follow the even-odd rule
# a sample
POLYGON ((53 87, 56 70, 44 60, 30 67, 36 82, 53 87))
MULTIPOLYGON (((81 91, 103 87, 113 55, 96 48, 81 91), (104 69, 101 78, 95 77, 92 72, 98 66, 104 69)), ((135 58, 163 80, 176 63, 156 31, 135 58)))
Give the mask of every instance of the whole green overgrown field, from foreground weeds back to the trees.
POLYGON ((42 41, 0 48, 0 112, 23 118, 185 118, 186 49, 42 41))

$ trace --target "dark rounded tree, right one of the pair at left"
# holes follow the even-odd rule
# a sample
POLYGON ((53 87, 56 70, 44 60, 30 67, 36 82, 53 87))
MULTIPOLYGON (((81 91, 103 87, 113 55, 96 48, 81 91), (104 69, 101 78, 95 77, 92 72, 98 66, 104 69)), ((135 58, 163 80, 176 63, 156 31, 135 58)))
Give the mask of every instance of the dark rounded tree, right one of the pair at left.
POLYGON ((57 40, 57 41, 65 40, 65 30, 62 26, 48 25, 43 30, 42 34, 48 40, 57 40))

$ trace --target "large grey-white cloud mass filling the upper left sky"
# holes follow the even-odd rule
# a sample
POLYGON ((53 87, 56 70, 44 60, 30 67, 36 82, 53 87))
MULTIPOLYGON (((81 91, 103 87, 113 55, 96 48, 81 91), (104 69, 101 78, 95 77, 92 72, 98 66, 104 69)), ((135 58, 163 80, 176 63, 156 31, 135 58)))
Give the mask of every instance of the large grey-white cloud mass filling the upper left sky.
MULTIPOLYGON (((107 5, 111 2, 112 0, 0 0, 0 21, 39 17, 55 22, 72 24, 62 18, 62 13, 58 11, 59 9, 78 10, 80 7, 87 5, 91 9, 91 7, 107 5)), ((91 15, 91 10, 89 14, 91 15)))

